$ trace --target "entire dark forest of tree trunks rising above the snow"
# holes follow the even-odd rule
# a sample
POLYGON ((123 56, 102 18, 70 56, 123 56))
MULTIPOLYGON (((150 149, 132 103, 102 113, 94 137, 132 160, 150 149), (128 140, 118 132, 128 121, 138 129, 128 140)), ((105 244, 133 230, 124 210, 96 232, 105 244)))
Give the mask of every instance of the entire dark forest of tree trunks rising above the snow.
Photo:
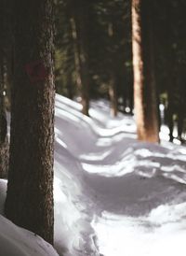
POLYGON ((166 124, 170 141, 185 142, 185 7, 183 0, 58 0, 54 8, 51 0, 1 1, 0 166, 2 178, 8 169, 10 220, 53 242, 53 77, 56 92, 81 102, 87 116, 91 99, 106 98, 113 117, 135 115, 140 140, 158 143, 166 124), (34 212, 22 184, 34 184, 27 190, 34 212))

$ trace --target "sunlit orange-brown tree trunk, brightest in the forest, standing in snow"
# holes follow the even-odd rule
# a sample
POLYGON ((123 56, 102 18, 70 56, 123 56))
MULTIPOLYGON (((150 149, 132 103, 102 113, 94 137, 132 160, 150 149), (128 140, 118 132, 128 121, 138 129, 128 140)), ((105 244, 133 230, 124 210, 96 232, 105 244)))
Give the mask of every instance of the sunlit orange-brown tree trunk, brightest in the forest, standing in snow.
POLYGON ((140 140, 159 141, 154 67, 151 3, 132 1, 132 43, 134 68, 134 106, 140 140))

